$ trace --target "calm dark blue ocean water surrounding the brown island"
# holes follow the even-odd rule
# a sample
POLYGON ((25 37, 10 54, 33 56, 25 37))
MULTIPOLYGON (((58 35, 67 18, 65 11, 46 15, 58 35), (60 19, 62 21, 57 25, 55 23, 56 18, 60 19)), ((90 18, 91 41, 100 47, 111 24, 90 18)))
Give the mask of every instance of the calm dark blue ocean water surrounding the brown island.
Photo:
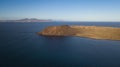
POLYGON ((54 25, 120 27, 120 23, 117 22, 0 23, 0 65, 120 67, 120 41, 82 37, 44 37, 36 34, 45 27, 54 25))

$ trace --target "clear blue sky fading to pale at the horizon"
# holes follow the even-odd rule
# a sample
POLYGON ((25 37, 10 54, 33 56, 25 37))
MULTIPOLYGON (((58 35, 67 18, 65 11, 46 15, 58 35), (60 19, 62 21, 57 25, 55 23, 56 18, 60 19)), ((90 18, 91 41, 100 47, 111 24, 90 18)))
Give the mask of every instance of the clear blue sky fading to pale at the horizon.
POLYGON ((0 20, 120 21, 120 0, 0 0, 0 20))

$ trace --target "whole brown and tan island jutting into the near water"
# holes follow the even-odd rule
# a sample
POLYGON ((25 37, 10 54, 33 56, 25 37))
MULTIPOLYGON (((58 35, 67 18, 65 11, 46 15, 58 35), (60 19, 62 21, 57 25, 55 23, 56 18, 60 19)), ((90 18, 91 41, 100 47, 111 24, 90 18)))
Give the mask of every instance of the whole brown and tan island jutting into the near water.
POLYGON ((49 26, 38 32, 43 36, 80 36, 94 39, 120 40, 120 28, 105 26, 49 26))

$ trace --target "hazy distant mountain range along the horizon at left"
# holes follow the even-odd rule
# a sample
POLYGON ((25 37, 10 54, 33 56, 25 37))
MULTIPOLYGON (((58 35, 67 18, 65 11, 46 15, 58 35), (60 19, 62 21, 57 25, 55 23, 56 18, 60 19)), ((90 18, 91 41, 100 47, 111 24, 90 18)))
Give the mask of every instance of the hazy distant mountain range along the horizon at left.
POLYGON ((24 18, 19 20, 0 20, 0 22, 52 22, 53 20, 48 19, 36 19, 36 18, 24 18))

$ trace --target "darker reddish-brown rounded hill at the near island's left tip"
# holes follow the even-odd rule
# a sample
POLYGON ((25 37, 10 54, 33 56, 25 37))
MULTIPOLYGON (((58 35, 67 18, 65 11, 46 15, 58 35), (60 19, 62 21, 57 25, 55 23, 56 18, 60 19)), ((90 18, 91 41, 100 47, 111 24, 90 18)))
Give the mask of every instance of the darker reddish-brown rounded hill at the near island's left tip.
POLYGON ((70 36, 74 35, 73 31, 75 30, 68 25, 50 26, 44 29, 42 32, 39 32, 38 34, 46 36, 70 36))

